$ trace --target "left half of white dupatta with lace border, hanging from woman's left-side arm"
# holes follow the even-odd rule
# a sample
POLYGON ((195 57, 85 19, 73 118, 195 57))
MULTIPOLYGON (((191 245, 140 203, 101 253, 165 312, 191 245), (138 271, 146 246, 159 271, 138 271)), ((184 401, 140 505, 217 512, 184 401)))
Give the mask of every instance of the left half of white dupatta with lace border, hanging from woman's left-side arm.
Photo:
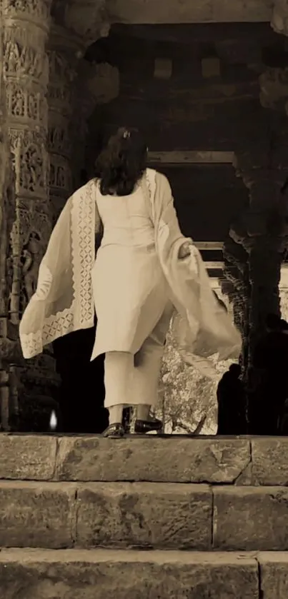
POLYGON ((91 268, 101 221, 96 183, 89 181, 66 202, 39 267, 36 293, 19 326, 24 358, 55 339, 94 325, 91 268))

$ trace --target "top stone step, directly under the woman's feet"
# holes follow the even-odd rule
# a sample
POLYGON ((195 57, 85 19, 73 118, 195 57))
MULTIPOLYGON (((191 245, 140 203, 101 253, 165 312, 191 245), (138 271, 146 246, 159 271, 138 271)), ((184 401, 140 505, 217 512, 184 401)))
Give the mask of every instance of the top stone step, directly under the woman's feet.
POLYGON ((288 438, 0 434, 0 478, 288 485, 288 438))

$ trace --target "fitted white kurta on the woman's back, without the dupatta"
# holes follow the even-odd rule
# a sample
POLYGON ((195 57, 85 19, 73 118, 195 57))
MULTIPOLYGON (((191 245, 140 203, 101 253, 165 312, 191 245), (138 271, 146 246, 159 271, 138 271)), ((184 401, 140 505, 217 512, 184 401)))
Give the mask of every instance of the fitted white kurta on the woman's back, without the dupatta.
POLYGON ((96 201, 104 236, 92 269, 98 322, 91 360, 139 351, 169 300, 141 186, 129 196, 102 196, 98 188, 96 201))

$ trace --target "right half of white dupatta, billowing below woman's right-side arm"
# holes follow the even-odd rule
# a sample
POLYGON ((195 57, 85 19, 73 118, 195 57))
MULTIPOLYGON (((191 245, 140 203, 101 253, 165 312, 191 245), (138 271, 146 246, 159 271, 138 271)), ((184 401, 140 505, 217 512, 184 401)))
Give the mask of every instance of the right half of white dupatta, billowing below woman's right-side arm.
POLYGON ((184 238, 179 231, 167 179, 162 176, 162 193, 159 196, 159 175, 147 169, 147 177, 157 253, 176 308, 172 336, 183 360, 215 379, 214 364, 207 358, 218 354, 221 360, 238 359, 241 335, 214 296, 199 250, 191 238, 184 238), (179 248, 184 241, 191 244, 190 255, 179 259, 179 248))

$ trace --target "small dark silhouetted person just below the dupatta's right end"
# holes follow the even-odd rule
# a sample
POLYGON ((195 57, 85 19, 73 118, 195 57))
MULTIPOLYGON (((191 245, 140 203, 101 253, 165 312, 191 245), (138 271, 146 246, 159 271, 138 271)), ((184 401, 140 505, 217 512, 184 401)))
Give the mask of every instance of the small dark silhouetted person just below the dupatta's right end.
POLYGON ((224 373, 217 388, 217 435, 245 435, 247 433, 245 393, 241 366, 232 364, 224 373))

